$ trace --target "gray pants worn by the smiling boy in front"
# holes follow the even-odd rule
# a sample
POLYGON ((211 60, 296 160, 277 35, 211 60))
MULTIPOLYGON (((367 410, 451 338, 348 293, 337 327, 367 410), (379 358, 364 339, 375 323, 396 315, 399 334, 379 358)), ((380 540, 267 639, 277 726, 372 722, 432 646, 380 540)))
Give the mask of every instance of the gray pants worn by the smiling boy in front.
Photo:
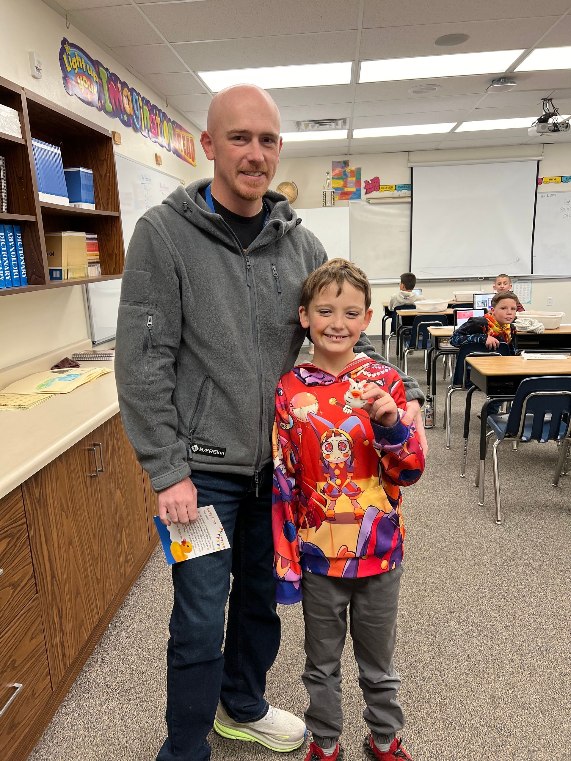
MULTIPOLYGON (((367 707, 363 718, 376 742, 390 743, 404 726, 397 702, 400 677, 394 670, 398 594, 402 565, 365 578, 334 578, 304 573, 305 672, 309 693, 305 724, 314 740, 334 745, 343 730, 341 653, 349 632, 359 665, 359 686, 367 707)), ((317 742, 317 744, 320 744, 317 742)))

